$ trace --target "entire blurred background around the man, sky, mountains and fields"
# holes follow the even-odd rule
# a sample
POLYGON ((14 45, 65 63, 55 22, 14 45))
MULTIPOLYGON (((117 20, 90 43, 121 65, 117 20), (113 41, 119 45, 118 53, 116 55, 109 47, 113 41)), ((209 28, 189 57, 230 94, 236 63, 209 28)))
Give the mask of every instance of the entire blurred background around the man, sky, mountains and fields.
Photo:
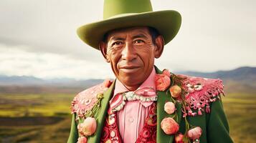
MULTIPOLYGON (((156 60, 176 74, 224 81, 234 142, 256 140, 256 1, 152 0, 181 29, 156 60)), ((0 142, 66 142, 75 94, 114 75, 77 27, 103 16, 98 1, 0 1, 0 142)))

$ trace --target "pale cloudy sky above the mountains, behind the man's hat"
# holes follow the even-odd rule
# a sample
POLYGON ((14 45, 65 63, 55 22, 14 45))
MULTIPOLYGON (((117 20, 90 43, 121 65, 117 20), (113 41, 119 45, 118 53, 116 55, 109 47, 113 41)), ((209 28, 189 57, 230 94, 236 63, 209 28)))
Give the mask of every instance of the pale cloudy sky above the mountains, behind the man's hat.
MULTIPOLYGON (((153 11, 176 10, 181 29, 156 59, 170 71, 256 66, 256 1, 151 0, 153 11)), ((76 35, 103 18, 103 0, 0 1, 0 75, 45 79, 113 78, 100 51, 76 35)))

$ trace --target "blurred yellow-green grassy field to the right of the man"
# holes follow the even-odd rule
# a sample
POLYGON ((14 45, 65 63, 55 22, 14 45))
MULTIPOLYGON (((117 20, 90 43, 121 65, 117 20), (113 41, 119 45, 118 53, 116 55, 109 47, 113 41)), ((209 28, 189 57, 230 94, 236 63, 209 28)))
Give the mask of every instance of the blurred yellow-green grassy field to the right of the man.
POLYGON ((223 103, 234 142, 255 142, 256 94, 227 94, 223 103))

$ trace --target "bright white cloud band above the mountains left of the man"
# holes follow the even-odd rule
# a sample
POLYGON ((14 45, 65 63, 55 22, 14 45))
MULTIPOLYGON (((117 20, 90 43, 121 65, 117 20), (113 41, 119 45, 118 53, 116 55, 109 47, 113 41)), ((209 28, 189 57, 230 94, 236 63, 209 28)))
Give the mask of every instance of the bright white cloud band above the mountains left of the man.
POLYGON ((72 59, 51 53, 23 51, 22 46, 0 44, 0 74, 39 78, 105 79, 113 78, 105 62, 72 59))

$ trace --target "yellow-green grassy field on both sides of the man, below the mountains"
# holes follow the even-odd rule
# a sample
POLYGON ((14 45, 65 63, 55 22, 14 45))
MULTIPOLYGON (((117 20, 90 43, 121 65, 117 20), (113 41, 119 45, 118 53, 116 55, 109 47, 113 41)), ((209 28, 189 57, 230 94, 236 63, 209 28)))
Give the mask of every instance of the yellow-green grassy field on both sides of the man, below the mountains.
MULTIPOLYGON (((0 142, 66 142, 73 94, 0 94, 0 142)), ((256 94, 223 98, 234 142, 256 140, 256 94)))

